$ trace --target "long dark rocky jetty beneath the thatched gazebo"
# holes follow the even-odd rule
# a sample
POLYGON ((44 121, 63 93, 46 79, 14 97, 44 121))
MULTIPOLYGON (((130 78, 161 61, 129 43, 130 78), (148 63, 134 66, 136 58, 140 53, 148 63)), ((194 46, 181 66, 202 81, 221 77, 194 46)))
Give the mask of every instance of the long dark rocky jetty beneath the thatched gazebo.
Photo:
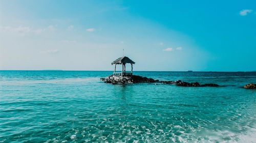
POLYGON ((115 76, 110 75, 106 78, 100 78, 101 81, 105 83, 112 83, 112 84, 126 84, 126 83, 163 83, 163 84, 175 84, 181 87, 219 87, 218 84, 215 83, 206 83, 206 84, 200 84, 198 82, 184 82, 181 80, 176 81, 159 81, 155 80, 153 78, 147 78, 143 76, 138 75, 131 75, 131 76, 115 76))

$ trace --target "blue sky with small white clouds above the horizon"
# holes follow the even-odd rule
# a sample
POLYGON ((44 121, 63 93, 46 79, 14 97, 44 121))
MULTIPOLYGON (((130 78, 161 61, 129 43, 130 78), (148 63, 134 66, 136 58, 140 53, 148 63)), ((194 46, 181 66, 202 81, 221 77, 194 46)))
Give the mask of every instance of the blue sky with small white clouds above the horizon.
POLYGON ((0 69, 256 70, 256 1, 0 1, 0 69))

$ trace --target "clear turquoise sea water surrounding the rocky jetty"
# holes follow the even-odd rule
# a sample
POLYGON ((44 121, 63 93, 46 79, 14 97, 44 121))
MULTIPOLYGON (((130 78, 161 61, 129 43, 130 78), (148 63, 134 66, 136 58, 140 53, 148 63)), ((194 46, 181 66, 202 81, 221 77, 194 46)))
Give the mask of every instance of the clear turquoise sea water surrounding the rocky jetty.
POLYGON ((0 71, 0 142, 256 142, 253 72, 135 72, 177 87, 100 81, 111 71, 0 71))

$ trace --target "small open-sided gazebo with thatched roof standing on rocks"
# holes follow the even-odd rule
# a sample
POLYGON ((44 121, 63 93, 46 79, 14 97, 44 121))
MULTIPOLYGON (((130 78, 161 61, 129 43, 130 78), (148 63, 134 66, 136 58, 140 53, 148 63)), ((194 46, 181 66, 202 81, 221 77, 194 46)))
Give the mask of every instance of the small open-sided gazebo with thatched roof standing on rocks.
POLYGON ((118 58, 117 60, 115 60, 114 62, 111 63, 112 65, 115 64, 115 70, 114 70, 114 75, 115 76, 129 76, 129 75, 133 75, 133 64, 135 64, 135 62, 133 62, 131 59, 129 59, 126 56, 123 56, 121 58, 118 58), (122 71, 121 72, 116 72, 116 65, 117 64, 121 64, 122 65, 122 71), (132 70, 131 72, 126 72, 125 71, 125 64, 131 64, 132 65, 132 70))

